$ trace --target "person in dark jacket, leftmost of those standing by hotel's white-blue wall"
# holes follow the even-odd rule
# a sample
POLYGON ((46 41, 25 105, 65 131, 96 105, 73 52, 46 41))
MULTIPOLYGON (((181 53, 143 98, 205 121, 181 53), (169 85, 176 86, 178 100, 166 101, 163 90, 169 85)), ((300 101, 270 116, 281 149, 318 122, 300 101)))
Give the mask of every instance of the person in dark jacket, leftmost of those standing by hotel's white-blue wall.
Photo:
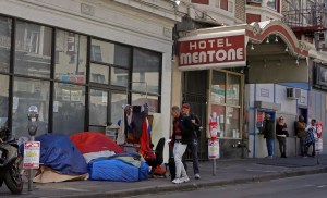
POLYGON ((267 158, 272 159, 274 158, 274 141, 275 141, 275 134, 274 134, 274 123, 270 120, 270 115, 266 114, 265 121, 264 121, 264 138, 266 139, 268 156, 267 158))

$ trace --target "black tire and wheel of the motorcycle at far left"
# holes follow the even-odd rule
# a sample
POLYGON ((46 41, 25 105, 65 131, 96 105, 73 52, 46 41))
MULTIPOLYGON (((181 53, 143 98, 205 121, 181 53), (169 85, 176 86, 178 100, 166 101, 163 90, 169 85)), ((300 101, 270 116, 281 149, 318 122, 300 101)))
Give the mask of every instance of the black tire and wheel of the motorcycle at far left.
POLYGON ((12 194, 19 195, 23 191, 23 181, 20 174, 20 163, 22 160, 17 158, 10 164, 5 175, 4 183, 12 194))

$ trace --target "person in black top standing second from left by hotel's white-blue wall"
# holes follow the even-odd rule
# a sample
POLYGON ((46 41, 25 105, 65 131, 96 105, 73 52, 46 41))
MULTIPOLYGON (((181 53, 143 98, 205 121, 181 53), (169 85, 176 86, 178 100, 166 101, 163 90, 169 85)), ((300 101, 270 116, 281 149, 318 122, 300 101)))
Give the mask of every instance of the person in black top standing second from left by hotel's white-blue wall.
POLYGON ((286 139, 289 136, 289 133, 288 133, 288 126, 284 123, 284 119, 282 116, 280 116, 278 119, 278 122, 276 124, 276 136, 277 136, 277 140, 279 144, 280 156, 281 156, 281 158, 287 158, 287 156, 286 156, 286 148, 287 148, 286 139))

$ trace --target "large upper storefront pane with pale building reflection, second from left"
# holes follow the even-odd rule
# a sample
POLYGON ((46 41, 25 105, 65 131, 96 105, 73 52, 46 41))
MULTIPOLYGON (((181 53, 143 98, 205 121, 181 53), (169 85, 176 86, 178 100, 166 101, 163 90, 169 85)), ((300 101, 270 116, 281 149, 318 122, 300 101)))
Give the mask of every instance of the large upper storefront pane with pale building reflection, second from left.
POLYGON ((17 22, 14 73, 50 77, 51 28, 17 22))

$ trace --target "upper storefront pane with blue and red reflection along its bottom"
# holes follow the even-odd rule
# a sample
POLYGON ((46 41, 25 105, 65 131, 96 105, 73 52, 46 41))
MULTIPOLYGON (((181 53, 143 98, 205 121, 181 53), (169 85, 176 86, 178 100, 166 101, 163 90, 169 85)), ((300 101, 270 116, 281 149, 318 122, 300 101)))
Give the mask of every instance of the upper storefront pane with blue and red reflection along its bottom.
POLYGON ((56 78, 85 83, 87 37, 58 30, 56 35, 56 78))

